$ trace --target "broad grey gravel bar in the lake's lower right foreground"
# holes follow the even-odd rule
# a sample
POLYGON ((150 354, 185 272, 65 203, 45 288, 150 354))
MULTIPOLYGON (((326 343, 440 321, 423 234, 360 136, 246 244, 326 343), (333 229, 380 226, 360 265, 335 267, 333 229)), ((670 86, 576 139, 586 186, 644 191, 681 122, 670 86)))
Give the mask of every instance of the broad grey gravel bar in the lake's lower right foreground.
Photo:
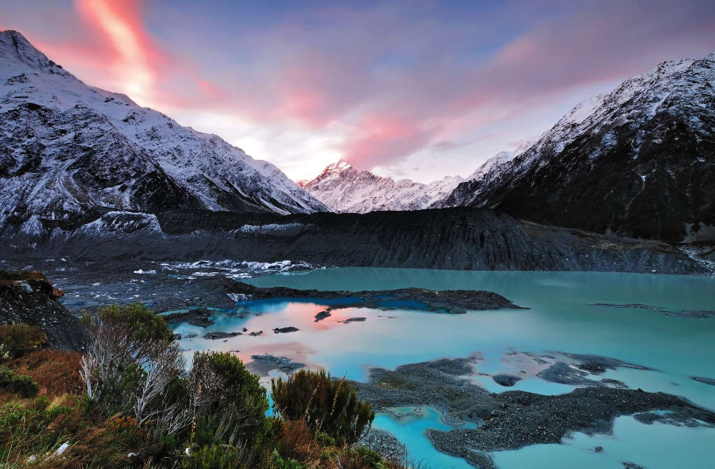
POLYGON ((715 425, 715 413, 666 393, 614 387, 583 387, 563 395, 524 391, 489 393, 465 377, 474 360, 442 359, 384 370, 370 370, 368 382, 352 383, 358 397, 379 410, 403 405, 433 405, 478 428, 428 430, 435 448, 490 467, 485 453, 515 450, 539 443, 559 443, 574 432, 611 433, 618 415, 641 415, 642 421, 715 425), (651 410, 666 411, 664 416, 651 410), (704 423, 704 424, 703 424, 704 423))

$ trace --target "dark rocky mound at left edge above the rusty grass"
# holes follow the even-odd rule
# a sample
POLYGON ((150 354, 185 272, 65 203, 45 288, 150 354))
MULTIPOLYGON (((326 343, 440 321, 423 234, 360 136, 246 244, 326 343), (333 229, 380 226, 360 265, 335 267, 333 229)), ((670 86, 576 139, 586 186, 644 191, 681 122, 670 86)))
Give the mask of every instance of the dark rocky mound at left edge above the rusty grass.
POLYGON ((0 324, 25 324, 45 331, 51 347, 82 350, 79 318, 58 301, 63 292, 40 272, 0 271, 0 324))

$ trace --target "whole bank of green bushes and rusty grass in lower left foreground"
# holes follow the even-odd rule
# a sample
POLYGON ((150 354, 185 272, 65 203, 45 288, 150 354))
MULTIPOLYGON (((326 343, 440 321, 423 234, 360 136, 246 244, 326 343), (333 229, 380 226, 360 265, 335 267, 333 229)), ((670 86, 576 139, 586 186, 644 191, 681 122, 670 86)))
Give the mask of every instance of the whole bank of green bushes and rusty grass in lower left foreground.
POLYGON ((391 469, 358 441, 375 413, 345 380, 302 370, 272 382, 230 353, 187 372, 162 317, 139 303, 83 318, 83 354, 0 326, 2 468, 391 469))

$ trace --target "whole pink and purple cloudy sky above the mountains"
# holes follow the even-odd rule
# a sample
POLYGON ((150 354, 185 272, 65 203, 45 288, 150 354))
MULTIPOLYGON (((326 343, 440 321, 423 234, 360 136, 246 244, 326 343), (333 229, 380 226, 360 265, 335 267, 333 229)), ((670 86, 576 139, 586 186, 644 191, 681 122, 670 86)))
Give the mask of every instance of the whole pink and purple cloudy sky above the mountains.
POLYGON ((0 0, 1 29, 293 179, 430 182, 715 51, 715 1, 0 0))

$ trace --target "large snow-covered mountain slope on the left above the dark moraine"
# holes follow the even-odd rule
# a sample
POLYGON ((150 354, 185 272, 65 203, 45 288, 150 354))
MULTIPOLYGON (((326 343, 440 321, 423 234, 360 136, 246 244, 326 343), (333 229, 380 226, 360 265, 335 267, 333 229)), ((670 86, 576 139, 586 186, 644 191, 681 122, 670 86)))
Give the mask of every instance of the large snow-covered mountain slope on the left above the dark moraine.
POLYGON ((16 31, 0 31, 0 87, 0 227, 97 208, 326 210, 272 164, 88 87, 16 31))

